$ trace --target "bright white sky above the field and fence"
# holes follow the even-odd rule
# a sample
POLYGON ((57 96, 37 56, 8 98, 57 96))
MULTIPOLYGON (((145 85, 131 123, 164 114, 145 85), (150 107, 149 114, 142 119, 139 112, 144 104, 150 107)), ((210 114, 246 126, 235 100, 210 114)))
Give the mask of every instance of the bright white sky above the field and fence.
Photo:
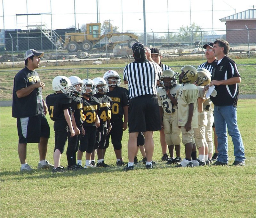
MULTIPOLYGON (((52 29, 65 29, 75 25, 74 0, 2 0, 0 29, 3 27, 15 29, 17 27, 15 14, 50 13, 50 2, 52 2, 52 29)), ((167 32, 168 29, 174 32, 182 25, 189 26, 190 8, 191 22, 201 26, 203 31, 212 30, 212 3, 214 31, 225 30, 225 22, 220 22, 220 18, 252 9, 250 5, 256 5, 254 0, 146 0, 145 2, 147 32, 151 32, 151 29, 154 32, 167 32)), ((76 27, 78 27, 77 23, 81 27, 82 24, 97 22, 96 0, 75 0, 75 7, 76 27)), ((99 0, 99 7, 101 23, 109 19, 114 26, 119 27, 120 32, 122 29, 135 33, 144 31, 143 0, 99 0)), ((28 24, 40 24, 41 19, 42 23, 51 29, 51 15, 28 16, 28 24)), ((27 29, 27 16, 18 16, 17 20, 18 28, 27 29)))

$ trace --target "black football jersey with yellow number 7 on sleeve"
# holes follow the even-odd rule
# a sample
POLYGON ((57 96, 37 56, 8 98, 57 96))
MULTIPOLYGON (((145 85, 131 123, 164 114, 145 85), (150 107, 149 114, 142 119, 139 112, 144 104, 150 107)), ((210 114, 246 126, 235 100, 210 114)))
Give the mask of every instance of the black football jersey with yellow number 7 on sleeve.
POLYGON ((46 104, 48 107, 51 120, 65 120, 64 110, 68 109, 71 116, 71 101, 72 98, 65 93, 53 93, 46 97, 46 104))

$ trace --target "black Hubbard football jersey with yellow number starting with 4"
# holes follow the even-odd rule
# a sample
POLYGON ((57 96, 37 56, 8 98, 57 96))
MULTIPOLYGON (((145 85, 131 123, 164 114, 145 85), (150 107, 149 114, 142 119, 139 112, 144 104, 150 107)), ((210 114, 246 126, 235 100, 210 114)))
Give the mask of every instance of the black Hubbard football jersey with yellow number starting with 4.
POLYGON ((103 122, 111 119, 112 100, 106 95, 96 94, 95 97, 98 98, 100 104, 98 116, 100 118, 100 125, 102 125, 103 122))

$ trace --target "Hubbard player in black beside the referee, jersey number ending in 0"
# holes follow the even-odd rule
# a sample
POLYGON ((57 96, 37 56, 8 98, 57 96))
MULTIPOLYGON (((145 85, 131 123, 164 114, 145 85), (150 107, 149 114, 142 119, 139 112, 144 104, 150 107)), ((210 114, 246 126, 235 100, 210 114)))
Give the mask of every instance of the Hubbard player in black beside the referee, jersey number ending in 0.
POLYGON ((125 165, 122 158, 122 138, 123 131, 125 131, 128 126, 128 90, 120 87, 121 77, 114 70, 108 70, 104 74, 103 79, 105 79, 109 88, 109 91, 106 95, 110 97, 113 102, 110 119, 112 128, 106 137, 105 148, 108 148, 109 139, 111 136, 111 142, 114 146, 114 151, 116 154, 116 165, 122 166, 125 165))

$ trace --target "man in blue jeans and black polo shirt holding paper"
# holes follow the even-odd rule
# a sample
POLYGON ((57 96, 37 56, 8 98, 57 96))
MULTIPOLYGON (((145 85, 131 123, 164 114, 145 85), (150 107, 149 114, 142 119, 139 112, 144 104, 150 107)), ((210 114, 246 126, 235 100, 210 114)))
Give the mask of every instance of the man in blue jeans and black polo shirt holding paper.
MULTIPOLYGON (((210 96, 214 106, 215 131, 218 136, 218 159, 213 165, 228 165, 228 134, 234 144, 235 161, 233 166, 245 165, 244 144, 237 126, 236 106, 238 100, 238 83, 241 76, 236 63, 227 55, 229 44, 225 40, 216 40, 213 43, 214 56, 218 63, 212 69, 212 81, 217 95, 210 96)), ((209 86, 205 87, 208 90, 209 86)))

